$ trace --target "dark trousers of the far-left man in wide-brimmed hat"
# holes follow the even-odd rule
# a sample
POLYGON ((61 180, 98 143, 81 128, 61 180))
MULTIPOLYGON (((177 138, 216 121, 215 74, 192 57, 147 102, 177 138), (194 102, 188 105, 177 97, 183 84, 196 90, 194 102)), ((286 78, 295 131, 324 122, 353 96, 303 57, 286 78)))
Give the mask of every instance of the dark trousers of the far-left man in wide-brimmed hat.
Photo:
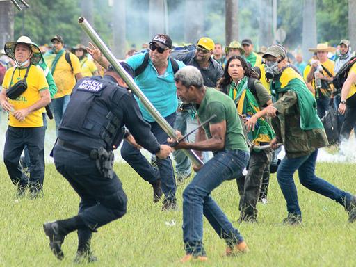
POLYGON ((44 180, 44 130, 43 127, 8 127, 3 151, 3 162, 13 184, 22 188, 30 185, 31 191, 41 190, 44 180), (19 168, 19 158, 25 145, 29 149, 30 178, 19 168))

